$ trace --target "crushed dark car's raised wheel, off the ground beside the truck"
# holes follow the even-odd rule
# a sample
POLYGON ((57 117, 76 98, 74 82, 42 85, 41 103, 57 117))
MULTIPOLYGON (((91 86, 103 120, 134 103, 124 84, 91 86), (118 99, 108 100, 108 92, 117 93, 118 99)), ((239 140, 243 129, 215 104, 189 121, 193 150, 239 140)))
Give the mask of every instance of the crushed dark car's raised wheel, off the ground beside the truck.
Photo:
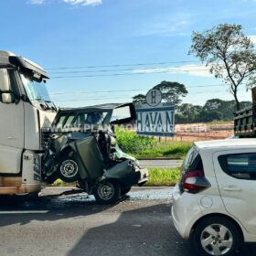
POLYGON ((68 183, 78 180, 79 166, 74 158, 63 159, 60 162, 58 177, 68 183))

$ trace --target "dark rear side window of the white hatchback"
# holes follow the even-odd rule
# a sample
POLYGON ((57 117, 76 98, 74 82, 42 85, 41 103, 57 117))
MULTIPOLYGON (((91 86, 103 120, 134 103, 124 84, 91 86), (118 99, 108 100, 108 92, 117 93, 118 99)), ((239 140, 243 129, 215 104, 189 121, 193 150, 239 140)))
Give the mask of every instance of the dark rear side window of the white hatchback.
POLYGON ((256 180, 256 154, 219 155, 221 169, 235 178, 256 180))

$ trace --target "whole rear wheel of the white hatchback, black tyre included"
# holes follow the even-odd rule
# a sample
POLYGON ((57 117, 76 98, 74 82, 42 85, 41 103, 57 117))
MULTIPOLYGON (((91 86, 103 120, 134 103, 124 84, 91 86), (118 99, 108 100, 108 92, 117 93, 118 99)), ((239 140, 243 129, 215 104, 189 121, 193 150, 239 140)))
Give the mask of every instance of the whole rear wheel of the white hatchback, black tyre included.
POLYGON ((192 231, 190 240, 199 255, 233 255, 240 246, 240 233, 229 219, 203 219, 192 231))

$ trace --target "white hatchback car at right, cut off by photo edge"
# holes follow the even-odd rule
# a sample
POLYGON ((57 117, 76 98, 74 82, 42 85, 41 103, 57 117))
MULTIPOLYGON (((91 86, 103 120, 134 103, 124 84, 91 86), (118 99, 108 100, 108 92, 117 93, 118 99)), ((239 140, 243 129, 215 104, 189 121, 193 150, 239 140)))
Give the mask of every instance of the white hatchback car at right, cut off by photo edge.
POLYGON ((256 241, 256 139, 198 142, 172 191, 172 219, 199 255, 256 241))

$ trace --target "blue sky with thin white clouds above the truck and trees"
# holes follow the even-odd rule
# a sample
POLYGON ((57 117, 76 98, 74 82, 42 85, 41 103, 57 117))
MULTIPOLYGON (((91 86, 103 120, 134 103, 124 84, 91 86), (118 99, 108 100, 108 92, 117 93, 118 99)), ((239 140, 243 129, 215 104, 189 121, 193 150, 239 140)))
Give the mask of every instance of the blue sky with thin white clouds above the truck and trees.
MULTIPOLYGON (((162 80, 185 84, 184 102, 232 100, 187 55, 192 32, 240 24, 256 43, 256 0, 1 0, 0 10, 0 49, 47 69, 63 107, 132 101, 162 80)), ((251 92, 239 97, 250 101, 251 92)))

